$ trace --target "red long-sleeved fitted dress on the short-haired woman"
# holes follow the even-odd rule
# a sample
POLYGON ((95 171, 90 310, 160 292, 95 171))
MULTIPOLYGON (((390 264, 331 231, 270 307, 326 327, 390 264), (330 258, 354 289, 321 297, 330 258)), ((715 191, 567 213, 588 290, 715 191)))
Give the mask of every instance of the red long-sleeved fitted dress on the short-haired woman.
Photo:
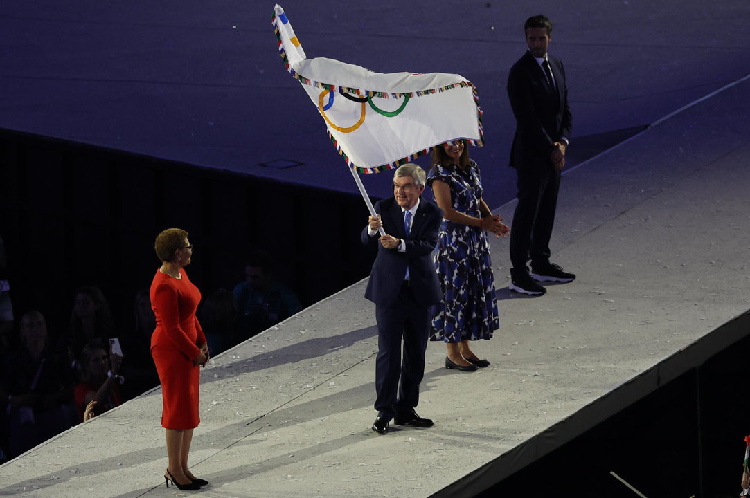
POLYGON ((200 291, 187 278, 181 279, 156 270, 151 282, 151 309, 156 330, 151 335, 151 356, 161 382, 163 412, 161 425, 168 429, 192 429, 200 422, 198 390, 200 367, 193 359, 200 354, 205 335, 195 316, 200 291))

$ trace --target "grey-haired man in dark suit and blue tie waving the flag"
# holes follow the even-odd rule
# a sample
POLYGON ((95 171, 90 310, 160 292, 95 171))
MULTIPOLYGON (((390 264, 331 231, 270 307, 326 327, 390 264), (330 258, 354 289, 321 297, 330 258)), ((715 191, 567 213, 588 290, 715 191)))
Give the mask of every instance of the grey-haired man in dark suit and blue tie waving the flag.
POLYGON ((377 216, 370 216, 362 230, 362 243, 377 244, 378 249, 365 297, 375 303, 378 329, 378 414, 372 429, 379 434, 388 433, 391 419, 396 425, 434 425, 414 411, 425 375, 430 307, 443 299, 432 262, 443 210, 422 199, 424 190, 425 171, 404 164, 394 174, 393 197, 377 201, 377 216), (378 237, 380 227, 386 231, 382 237, 378 237))

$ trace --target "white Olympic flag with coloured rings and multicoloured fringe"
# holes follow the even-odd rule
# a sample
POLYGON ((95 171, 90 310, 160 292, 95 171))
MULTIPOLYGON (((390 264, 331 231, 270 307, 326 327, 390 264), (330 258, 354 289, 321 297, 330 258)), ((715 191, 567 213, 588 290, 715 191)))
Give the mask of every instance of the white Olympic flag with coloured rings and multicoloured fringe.
POLYGON ((463 76, 384 74, 331 58, 308 59, 278 4, 272 22, 287 70, 302 83, 350 168, 397 168, 459 139, 483 145, 476 88, 463 76))

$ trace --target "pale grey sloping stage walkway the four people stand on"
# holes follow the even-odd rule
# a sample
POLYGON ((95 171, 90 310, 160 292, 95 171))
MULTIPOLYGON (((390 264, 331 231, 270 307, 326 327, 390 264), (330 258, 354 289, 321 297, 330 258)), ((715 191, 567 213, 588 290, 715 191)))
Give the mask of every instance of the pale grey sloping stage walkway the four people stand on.
MULTIPOLYGON (((565 173, 552 246, 575 282, 511 297, 493 241, 501 330, 475 345, 492 365, 448 371, 428 345, 417 411, 434 428, 370 430, 365 282, 214 358, 190 461, 211 485, 193 493, 463 496, 464 476, 508 475, 703 361, 696 341, 739 339, 712 332, 750 309, 748 94, 745 77, 565 173)), ((187 494, 164 487, 160 410, 156 389, 71 428, 0 467, 0 495, 187 494)))

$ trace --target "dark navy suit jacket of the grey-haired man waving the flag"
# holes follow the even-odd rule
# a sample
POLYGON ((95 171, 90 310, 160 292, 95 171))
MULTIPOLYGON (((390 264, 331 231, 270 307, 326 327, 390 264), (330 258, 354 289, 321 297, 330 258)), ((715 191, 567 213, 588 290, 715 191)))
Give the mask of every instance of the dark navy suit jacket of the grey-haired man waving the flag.
POLYGON ((378 242, 380 234, 371 237, 368 234, 369 227, 365 227, 362 231, 362 243, 377 244, 378 249, 365 297, 380 306, 395 303, 408 266, 417 303, 425 307, 440 303, 443 291, 440 290, 440 281, 432 262, 432 252, 437 244, 443 210, 424 198, 419 198, 419 207, 408 236, 404 231, 403 211, 395 198, 377 201, 375 211, 380 214, 386 234, 404 239, 407 250, 399 252, 397 249, 384 248, 378 242))

